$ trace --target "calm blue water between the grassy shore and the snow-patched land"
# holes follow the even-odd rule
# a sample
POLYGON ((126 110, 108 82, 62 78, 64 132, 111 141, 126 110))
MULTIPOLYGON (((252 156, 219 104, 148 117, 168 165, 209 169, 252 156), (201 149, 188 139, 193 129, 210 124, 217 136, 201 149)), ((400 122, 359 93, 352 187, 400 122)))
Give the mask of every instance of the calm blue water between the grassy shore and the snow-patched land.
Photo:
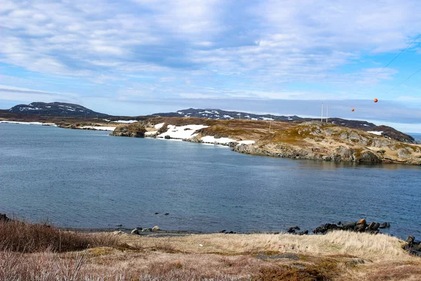
POLYGON ((420 166, 258 157, 107 134, 0 124, 0 212, 76 228, 240 232, 366 218, 391 222, 393 235, 421 236, 420 166))

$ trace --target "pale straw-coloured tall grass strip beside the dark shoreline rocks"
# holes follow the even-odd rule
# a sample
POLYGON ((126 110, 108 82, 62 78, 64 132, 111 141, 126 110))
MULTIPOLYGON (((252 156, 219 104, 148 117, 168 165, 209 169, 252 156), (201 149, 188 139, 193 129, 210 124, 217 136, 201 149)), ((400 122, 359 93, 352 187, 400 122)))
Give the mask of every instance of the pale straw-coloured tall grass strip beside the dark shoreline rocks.
MULTIPOLYGON (((131 244, 141 241, 143 247, 154 248, 163 238, 124 236, 131 244)), ((370 235, 336 231, 326 235, 251 234, 251 235, 188 235, 165 238, 173 251, 200 254, 257 254, 289 252, 314 256, 352 255, 370 261, 413 261, 402 249, 403 241, 388 235, 370 235), (200 247, 202 244, 203 247, 200 247)))

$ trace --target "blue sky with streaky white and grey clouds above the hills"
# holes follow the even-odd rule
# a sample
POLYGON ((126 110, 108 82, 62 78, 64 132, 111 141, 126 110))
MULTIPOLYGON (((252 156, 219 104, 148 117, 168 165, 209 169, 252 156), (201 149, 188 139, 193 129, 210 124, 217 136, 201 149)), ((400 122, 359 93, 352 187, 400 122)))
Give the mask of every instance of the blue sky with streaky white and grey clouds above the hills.
POLYGON ((0 108, 319 117, 323 103, 421 133, 420 14, 418 0, 0 0, 0 108))

